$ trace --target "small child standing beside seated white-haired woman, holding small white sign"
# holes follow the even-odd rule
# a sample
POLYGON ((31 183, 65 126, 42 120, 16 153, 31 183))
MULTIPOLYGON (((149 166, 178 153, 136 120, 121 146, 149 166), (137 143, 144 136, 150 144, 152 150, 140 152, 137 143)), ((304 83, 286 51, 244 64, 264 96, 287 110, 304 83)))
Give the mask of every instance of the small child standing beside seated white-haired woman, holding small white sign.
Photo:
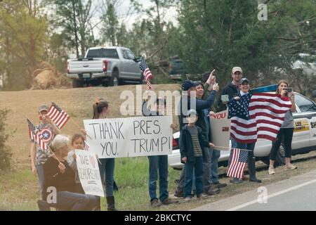
POLYGON ((82 134, 74 134, 72 136, 72 148, 74 149, 68 153, 67 162, 74 171, 75 192, 84 194, 78 175, 76 154, 74 154, 75 149, 84 150, 84 136, 82 134))

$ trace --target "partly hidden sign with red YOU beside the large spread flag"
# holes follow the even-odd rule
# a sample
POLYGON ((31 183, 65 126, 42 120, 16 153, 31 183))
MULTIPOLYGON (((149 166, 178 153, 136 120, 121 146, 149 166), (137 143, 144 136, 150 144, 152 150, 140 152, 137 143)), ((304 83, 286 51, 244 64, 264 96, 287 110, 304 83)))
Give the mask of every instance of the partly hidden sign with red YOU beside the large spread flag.
POLYGON ((211 125, 212 143, 215 146, 225 148, 216 148, 216 150, 229 150, 230 146, 230 119, 228 119, 228 110, 216 113, 209 117, 211 125))

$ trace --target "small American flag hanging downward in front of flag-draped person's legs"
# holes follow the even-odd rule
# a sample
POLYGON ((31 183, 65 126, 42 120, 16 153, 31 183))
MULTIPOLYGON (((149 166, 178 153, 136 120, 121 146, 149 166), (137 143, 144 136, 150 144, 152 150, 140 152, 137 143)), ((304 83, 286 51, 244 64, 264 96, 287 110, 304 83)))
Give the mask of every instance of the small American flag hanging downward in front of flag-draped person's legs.
POLYGON ((227 176, 242 179, 244 167, 246 167, 248 151, 233 148, 230 153, 230 165, 228 167, 227 176))

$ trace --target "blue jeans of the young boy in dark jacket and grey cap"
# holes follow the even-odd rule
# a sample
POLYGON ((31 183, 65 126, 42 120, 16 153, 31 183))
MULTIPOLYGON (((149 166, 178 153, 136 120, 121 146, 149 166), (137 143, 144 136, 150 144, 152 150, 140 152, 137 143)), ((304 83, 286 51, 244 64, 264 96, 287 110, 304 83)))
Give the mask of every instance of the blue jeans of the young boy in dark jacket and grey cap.
POLYGON ((193 169, 195 172, 195 187, 197 196, 203 193, 203 158, 202 156, 195 157, 195 162, 187 161, 185 164, 185 197, 192 196, 192 179, 193 169))

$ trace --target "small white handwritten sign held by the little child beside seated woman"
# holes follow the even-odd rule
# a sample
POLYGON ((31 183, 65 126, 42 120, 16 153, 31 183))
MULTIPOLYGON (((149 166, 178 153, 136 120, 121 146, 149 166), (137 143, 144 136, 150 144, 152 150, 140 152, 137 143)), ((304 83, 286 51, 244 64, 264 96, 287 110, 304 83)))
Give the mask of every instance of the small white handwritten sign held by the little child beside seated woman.
POLYGON ((86 150, 75 150, 79 179, 84 193, 104 197, 100 170, 96 154, 86 150))

